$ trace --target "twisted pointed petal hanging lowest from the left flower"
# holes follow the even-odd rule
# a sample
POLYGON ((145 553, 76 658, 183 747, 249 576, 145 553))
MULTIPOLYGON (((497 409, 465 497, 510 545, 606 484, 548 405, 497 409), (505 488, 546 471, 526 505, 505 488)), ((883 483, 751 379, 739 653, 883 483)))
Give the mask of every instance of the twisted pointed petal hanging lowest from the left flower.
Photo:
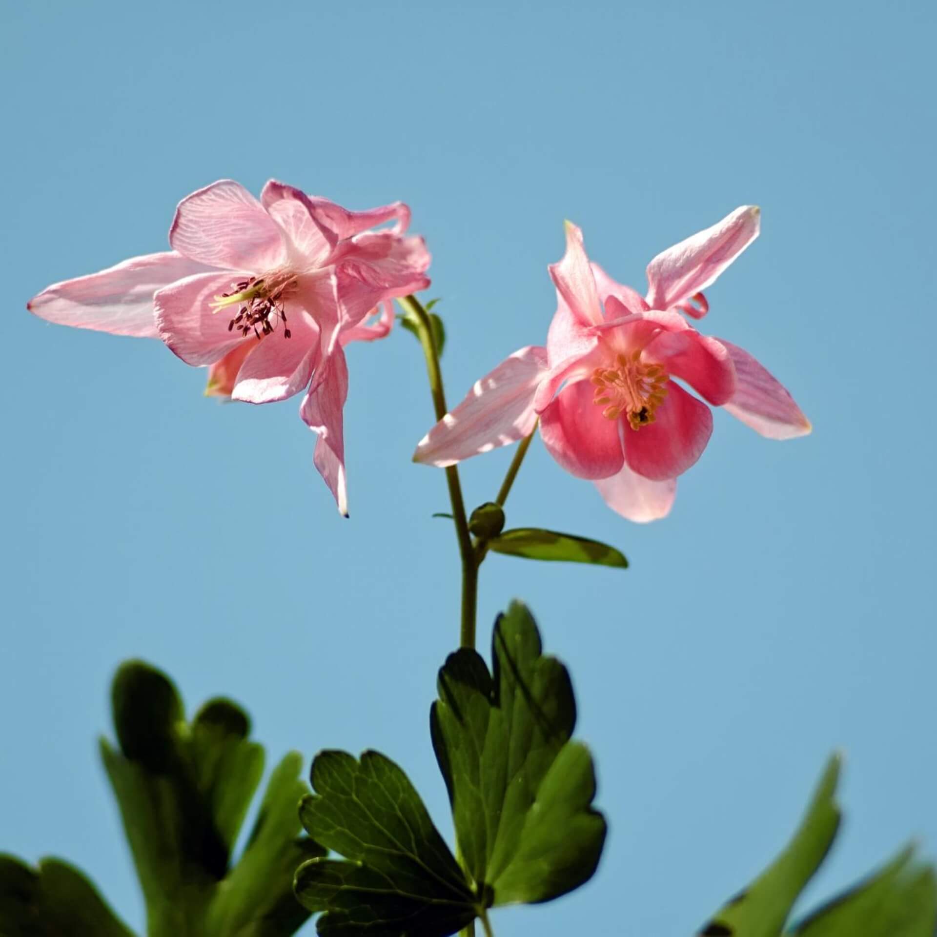
POLYGON ((316 372, 312 387, 299 409, 305 424, 319 437, 313 464, 335 496, 338 512, 345 517, 349 515, 349 507, 342 409, 348 392, 349 372, 345 352, 336 348, 316 372))

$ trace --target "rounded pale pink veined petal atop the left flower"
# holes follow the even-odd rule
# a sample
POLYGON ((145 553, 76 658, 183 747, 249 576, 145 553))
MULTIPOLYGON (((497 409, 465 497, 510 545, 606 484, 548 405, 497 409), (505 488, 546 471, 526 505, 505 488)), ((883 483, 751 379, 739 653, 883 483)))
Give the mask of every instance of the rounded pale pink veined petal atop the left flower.
POLYGON ((283 230, 240 183, 222 179, 179 202, 170 244, 209 266, 263 273, 287 260, 283 230))

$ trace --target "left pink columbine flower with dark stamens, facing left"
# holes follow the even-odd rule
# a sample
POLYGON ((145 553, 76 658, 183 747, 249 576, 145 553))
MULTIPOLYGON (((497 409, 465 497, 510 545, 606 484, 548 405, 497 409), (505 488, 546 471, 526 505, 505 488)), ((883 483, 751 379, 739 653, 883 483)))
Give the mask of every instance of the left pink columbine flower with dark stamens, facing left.
POLYGON ((187 364, 210 367, 208 394, 271 403, 305 391, 314 462, 348 513, 343 347, 386 335, 390 300, 429 285, 409 208, 350 212, 268 182, 255 199, 222 180, 179 203, 171 251, 53 284, 27 308, 43 319, 161 338, 187 364), (370 231, 394 221, 394 227, 370 231), (379 320, 373 321, 372 314, 379 320))

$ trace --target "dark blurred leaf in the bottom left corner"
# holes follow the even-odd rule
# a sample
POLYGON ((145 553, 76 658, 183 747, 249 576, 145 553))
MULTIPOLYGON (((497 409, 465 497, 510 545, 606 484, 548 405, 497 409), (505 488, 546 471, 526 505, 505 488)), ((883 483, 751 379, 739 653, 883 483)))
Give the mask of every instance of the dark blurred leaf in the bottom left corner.
POLYGON ((133 937, 82 873, 58 859, 37 869, 0 855, 3 937, 133 937))

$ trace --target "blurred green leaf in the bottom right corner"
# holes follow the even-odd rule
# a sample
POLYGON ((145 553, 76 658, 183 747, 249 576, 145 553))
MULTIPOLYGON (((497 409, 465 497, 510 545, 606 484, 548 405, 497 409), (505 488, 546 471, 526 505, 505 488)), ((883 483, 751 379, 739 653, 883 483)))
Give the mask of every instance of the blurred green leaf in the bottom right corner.
POLYGON ((885 868, 802 921, 796 937, 933 937, 937 880, 908 847, 885 868))

